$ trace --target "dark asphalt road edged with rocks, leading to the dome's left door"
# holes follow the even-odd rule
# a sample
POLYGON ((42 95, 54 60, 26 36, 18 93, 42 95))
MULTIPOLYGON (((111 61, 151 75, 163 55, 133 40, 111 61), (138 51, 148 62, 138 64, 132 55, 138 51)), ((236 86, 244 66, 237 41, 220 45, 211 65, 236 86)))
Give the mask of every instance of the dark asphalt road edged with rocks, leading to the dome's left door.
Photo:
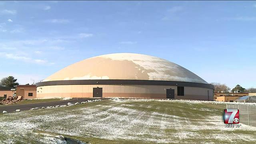
POLYGON ((60 100, 57 102, 42 102, 42 103, 36 103, 36 104, 14 104, 14 105, 6 105, 6 106, 0 106, 0 112, 2 113, 4 110, 8 113, 12 113, 15 110, 19 109, 21 111, 29 110, 30 108, 42 108, 43 106, 46 108, 46 106, 56 106, 56 105, 68 105, 68 102, 71 102, 72 104, 76 102, 86 102, 87 100, 94 100, 94 98, 74 98, 70 100, 60 100))

